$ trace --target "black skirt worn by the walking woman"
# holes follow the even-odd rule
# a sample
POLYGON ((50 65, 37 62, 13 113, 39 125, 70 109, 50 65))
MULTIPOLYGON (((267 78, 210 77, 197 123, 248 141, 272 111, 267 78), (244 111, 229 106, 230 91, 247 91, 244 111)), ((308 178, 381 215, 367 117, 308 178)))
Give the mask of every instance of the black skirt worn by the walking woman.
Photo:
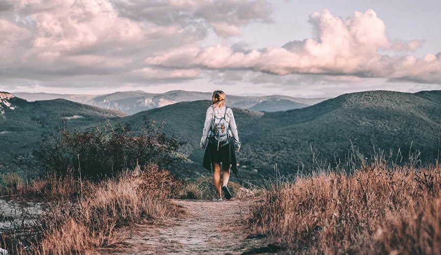
POLYGON ((212 171, 211 165, 213 163, 220 162, 223 165, 231 164, 231 170, 237 176, 237 162, 236 162, 236 150, 234 149, 233 142, 229 142, 225 146, 219 146, 219 150, 217 150, 217 143, 208 142, 207 148, 205 149, 204 162, 202 166, 208 171, 212 171))

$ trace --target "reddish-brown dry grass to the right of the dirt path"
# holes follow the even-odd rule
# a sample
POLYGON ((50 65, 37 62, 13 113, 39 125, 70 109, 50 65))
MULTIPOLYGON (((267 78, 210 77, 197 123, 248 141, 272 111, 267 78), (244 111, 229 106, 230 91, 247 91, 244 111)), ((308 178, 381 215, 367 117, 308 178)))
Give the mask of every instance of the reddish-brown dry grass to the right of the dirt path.
POLYGON ((268 190, 248 220, 299 253, 441 253, 441 170, 366 167, 268 190))

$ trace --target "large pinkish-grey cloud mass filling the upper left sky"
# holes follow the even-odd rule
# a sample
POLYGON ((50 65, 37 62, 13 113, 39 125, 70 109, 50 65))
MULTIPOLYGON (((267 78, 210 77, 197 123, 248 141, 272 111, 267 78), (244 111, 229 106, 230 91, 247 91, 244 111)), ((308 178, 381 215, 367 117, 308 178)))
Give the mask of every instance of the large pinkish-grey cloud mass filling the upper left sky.
POLYGON ((213 31, 220 39, 239 35, 243 25, 270 22, 271 12, 262 0, 0 0, 0 80, 197 78, 188 68, 165 71, 144 60, 213 31))

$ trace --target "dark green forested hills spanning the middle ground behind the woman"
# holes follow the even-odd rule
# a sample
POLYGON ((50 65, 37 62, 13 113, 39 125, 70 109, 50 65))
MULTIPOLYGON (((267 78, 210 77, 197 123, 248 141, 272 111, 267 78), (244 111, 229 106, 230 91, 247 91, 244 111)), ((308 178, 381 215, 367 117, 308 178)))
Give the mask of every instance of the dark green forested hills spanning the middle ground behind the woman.
MULTIPOLYGON (((227 105, 232 102, 233 97, 227 97, 227 105)), ((202 167, 204 150, 199 147, 209 100, 177 103, 126 117, 112 115, 112 112, 100 113, 98 110, 106 110, 66 100, 45 101, 34 108, 31 103, 36 102, 30 102, 27 108, 20 108, 20 104, 15 103, 15 112, 6 115, 6 121, 0 118, 0 144, 4 144, 0 147, 0 164, 12 161, 8 158, 10 152, 26 158, 22 149, 24 144, 37 144, 39 139, 35 134, 41 131, 29 123, 30 116, 52 121, 56 126, 53 116, 62 116, 65 112, 66 116, 84 116, 69 120, 71 126, 81 130, 99 125, 103 115, 110 119, 113 116, 113 121, 130 123, 134 127, 144 125, 145 118, 164 119, 166 125, 162 131, 187 142, 177 153, 188 161, 170 170, 179 177, 210 174, 202 167), (6 133, 1 134, 3 131, 6 133)), ((307 174, 326 165, 340 168, 347 164, 353 169, 363 161, 369 163, 378 154, 404 162, 409 155, 418 155, 421 151, 420 163, 433 162, 439 148, 440 112, 440 91, 350 93, 311 107, 284 112, 263 113, 234 108, 242 147, 236 155, 240 164, 239 175, 237 179, 234 175, 232 178, 238 183, 256 183, 273 175, 275 163, 285 176, 298 171, 307 174), (386 150, 379 151, 378 148, 386 150)))

